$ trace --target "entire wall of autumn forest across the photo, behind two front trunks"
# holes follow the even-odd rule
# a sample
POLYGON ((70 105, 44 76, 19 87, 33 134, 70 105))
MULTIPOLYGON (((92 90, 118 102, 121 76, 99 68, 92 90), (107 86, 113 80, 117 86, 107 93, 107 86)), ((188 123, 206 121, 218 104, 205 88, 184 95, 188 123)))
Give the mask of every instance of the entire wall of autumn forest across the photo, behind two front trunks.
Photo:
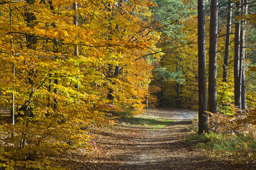
MULTIPOLYGON (((90 125, 113 124, 148 107, 198 109, 196 1, 0 5, 0 103, 10 112, 0 124, 5 165, 90 149, 90 125)), ((218 113, 255 109, 255 11, 253 0, 218 2, 218 113)), ((206 1, 207 78, 212 27, 206 1)))

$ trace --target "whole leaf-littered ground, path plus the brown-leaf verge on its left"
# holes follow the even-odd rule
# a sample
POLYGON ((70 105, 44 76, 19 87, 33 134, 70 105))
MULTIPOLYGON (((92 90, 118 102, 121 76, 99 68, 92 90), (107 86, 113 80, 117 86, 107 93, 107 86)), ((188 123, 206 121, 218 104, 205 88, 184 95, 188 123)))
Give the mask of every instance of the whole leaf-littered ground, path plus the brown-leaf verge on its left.
POLYGON ((172 109, 149 109, 144 116, 174 120, 162 129, 135 125, 119 120, 114 126, 93 129, 98 150, 76 150, 54 158, 71 169, 254 169, 245 164, 217 159, 209 152, 192 148, 184 142, 196 112, 172 109), (99 131, 100 130, 100 131, 99 131))

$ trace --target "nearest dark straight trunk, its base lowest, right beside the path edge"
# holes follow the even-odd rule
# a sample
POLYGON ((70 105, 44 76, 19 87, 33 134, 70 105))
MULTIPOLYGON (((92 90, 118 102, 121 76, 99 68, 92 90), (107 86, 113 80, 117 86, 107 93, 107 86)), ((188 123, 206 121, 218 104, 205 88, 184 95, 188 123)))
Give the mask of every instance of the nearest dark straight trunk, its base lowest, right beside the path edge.
POLYGON ((207 88, 205 68, 205 7, 204 0, 197 1, 198 20, 198 84, 199 84, 199 134, 208 131, 207 88))

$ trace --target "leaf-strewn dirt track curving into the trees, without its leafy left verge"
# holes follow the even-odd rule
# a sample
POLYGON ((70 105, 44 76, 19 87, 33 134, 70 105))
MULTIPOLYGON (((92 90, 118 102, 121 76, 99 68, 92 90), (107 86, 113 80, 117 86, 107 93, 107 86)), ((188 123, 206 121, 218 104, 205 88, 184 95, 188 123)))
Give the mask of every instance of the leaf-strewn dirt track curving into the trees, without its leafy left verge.
POLYGON ((146 114, 174 120, 163 129, 144 129, 137 139, 134 151, 125 159, 124 169, 228 169, 224 164, 212 162, 203 153, 194 152, 182 140, 188 135, 188 126, 197 117, 195 111, 158 108, 146 114))

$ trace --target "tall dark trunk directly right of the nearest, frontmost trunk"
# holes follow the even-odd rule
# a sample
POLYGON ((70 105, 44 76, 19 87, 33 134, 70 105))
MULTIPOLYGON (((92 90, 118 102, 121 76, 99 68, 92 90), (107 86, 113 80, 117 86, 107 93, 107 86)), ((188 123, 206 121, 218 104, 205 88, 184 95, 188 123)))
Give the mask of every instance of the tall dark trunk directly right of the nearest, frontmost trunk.
POLYGON ((218 40, 218 0, 210 1, 210 46, 209 46, 209 111, 218 112, 217 101, 217 40, 218 40))

